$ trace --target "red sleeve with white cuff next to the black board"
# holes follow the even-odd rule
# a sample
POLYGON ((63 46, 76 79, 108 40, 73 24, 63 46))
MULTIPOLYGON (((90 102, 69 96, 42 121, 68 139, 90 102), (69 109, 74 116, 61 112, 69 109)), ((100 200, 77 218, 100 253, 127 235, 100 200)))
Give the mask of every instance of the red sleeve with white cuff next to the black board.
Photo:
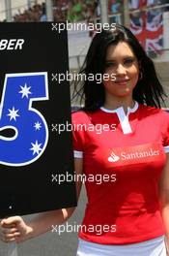
POLYGON ((83 113, 73 112, 71 114, 72 124, 72 144, 73 154, 75 158, 83 158, 85 135, 84 135, 84 123, 83 113))

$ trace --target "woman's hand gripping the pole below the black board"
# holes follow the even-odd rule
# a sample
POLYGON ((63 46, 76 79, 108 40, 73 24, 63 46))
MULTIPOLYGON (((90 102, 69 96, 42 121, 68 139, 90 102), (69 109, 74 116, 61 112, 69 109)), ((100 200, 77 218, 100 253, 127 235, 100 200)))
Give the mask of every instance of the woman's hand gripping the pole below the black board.
POLYGON ((19 216, 4 218, 0 221, 0 239, 5 242, 29 239, 32 228, 19 216))

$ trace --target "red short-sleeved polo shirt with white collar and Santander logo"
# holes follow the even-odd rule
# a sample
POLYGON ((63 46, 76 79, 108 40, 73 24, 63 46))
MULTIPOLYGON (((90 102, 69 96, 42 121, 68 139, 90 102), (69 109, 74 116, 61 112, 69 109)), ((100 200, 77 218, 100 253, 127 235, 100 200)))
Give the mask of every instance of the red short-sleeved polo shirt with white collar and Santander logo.
POLYGON ((157 186, 169 152, 169 114, 135 103, 127 114, 74 112, 72 124, 88 197, 79 237, 127 244, 163 235, 157 186))

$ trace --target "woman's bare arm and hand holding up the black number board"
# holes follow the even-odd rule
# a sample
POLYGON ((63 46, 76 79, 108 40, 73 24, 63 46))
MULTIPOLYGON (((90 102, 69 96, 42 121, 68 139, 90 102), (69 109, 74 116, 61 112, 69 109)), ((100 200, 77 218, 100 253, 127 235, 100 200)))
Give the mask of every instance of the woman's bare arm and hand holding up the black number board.
MULTIPOLYGON (((83 160, 75 158, 74 168, 76 175, 82 175, 83 160)), ((81 191, 81 180, 76 181, 77 199, 81 191)), ((52 229, 52 225, 61 225, 70 218, 75 208, 62 208, 46 211, 38 214, 28 223, 25 223, 20 216, 2 219, 0 223, 0 238, 6 242, 29 240, 52 229)))

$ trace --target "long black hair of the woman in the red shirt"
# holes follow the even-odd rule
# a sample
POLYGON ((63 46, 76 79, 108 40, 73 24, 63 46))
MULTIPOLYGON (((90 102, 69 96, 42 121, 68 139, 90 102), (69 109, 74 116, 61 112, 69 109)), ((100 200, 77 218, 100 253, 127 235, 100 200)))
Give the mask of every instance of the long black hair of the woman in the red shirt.
MULTIPOLYGON (((140 104, 161 108, 161 102, 164 103, 163 97, 166 95, 156 76, 154 62, 131 31, 123 25, 116 24, 115 29, 102 29, 96 34, 79 73, 85 74, 87 78, 90 74, 94 77, 97 74, 103 75, 107 48, 110 45, 116 46, 119 42, 126 42, 132 48, 140 64, 142 79, 137 81, 133 89, 133 99, 140 104)), ((96 111, 103 106, 105 93, 102 82, 84 80, 80 89, 79 81, 74 86, 74 95, 80 94, 81 100, 84 98, 84 111, 96 111)))

